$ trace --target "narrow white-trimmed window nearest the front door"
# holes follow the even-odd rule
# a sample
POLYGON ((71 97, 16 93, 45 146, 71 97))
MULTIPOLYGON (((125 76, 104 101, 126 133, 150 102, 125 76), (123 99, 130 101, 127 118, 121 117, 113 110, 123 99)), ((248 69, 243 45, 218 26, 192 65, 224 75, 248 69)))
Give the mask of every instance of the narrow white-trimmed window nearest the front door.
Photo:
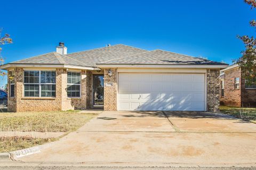
POLYGON ((80 72, 68 72, 67 95, 69 98, 79 98, 81 96, 80 72))

